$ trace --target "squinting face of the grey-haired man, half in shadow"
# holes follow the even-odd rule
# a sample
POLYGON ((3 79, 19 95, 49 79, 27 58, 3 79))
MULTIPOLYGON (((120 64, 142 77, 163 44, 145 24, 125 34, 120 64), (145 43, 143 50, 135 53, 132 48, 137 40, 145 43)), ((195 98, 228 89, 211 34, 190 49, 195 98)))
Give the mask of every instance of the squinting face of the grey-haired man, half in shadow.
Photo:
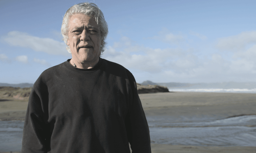
POLYGON ((71 16, 67 45, 76 62, 97 61, 101 54, 101 33, 95 19, 84 14, 71 16))

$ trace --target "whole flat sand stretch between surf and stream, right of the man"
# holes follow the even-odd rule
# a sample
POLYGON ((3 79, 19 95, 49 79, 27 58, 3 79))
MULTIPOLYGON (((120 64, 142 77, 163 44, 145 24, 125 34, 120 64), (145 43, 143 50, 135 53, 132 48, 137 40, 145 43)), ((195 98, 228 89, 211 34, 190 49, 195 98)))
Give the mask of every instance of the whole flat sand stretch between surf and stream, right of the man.
POLYGON ((256 114, 256 94, 174 92, 140 94, 146 116, 196 115, 222 118, 256 114))

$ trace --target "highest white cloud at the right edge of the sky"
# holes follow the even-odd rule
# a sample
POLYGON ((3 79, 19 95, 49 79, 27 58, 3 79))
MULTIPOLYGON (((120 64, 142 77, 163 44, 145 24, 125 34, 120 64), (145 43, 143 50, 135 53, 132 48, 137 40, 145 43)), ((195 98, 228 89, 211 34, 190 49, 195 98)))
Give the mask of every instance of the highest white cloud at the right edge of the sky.
POLYGON ((255 43, 256 31, 249 31, 234 36, 219 38, 216 47, 220 50, 238 51, 243 50, 246 45, 255 43))

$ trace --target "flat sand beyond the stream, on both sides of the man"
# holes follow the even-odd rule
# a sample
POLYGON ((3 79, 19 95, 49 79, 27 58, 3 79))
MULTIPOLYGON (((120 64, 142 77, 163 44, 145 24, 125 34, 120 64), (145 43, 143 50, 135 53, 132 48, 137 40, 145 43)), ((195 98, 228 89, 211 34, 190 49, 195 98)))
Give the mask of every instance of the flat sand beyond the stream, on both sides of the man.
MULTIPOLYGON (((256 114, 256 94, 218 92, 159 92, 139 94, 146 116, 191 115, 222 117, 256 114)), ((0 121, 23 121, 28 100, 0 98, 0 121)))

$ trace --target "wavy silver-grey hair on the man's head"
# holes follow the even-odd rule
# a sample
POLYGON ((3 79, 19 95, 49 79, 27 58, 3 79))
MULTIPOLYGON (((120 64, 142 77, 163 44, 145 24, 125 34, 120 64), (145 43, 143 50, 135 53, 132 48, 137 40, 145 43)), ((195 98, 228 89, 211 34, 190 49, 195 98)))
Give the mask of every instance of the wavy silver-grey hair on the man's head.
MULTIPOLYGON (((69 20, 70 17, 74 14, 84 14, 88 15, 90 17, 94 17, 95 21, 97 22, 97 25, 99 26, 99 30, 101 32, 101 53, 104 52, 106 48, 106 38, 108 35, 108 24, 104 19, 104 15, 99 9, 99 7, 94 4, 94 3, 79 3, 75 4, 74 6, 70 7, 67 12, 65 13, 63 20, 62 20, 62 25, 61 25, 61 34, 63 36, 63 40, 65 44, 67 44, 68 40, 68 31, 69 31, 69 20)), ((66 47, 67 51, 71 53, 70 47, 66 47)))

